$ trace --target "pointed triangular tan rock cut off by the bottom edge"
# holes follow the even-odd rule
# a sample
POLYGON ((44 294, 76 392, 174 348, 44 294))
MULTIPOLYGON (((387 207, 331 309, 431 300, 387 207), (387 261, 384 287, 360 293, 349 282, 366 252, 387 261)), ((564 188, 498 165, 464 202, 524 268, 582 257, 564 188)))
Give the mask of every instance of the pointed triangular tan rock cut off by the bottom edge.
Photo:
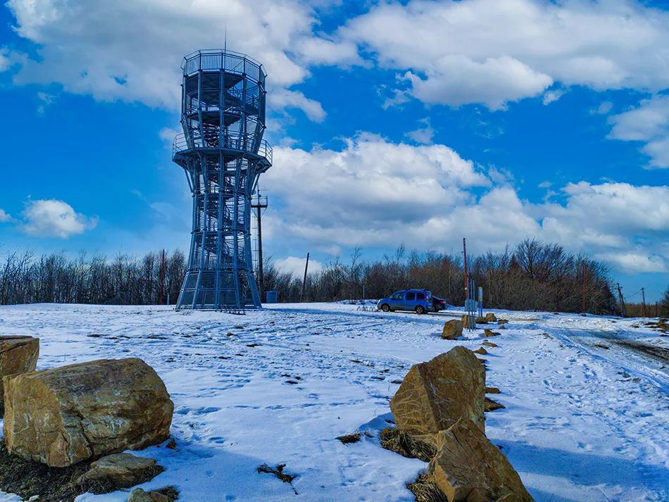
POLYGON ((490 502, 510 494, 504 502, 534 502, 513 466, 480 427, 462 418, 439 432, 439 451, 427 468, 449 502, 490 502))

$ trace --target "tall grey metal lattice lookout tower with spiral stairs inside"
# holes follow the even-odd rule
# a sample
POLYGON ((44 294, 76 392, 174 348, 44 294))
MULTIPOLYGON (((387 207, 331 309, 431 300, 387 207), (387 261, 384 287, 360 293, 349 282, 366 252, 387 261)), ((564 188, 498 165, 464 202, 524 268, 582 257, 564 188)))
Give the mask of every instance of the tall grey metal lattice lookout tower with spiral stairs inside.
POLYGON ((227 50, 182 64, 184 134, 173 160, 193 194, 188 269, 177 308, 259 308, 251 255, 251 195, 272 165, 265 130, 265 69, 227 50))

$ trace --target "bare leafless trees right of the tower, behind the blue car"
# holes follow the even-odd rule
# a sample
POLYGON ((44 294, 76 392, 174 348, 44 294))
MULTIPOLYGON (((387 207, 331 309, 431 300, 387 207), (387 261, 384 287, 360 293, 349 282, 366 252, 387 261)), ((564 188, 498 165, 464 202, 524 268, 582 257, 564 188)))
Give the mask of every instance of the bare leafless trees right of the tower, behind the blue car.
MULTIPOLYGON (((280 301, 299 301, 302 280, 265 266, 265 290, 277 290, 280 301)), ((568 253, 558 244, 526 239, 514 249, 468 256, 469 277, 484 289, 484 305, 509 310, 549 310, 612 313, 607 265, 583 254, 568 253)), ((308 276, 304 301, 380 299, 406 288, 425 288, 453 305, 464 304, 461 254, 408 253, 400 246, 392 256, 362 261, 356 249, 349 263, 333 258, 323 270, 308 276)))

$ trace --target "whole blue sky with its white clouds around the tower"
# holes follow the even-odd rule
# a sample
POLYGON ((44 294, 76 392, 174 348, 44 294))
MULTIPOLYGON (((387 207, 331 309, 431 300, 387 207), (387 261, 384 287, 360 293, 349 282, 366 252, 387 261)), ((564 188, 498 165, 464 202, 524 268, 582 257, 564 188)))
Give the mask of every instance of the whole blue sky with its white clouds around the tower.
POLYGON ((626 294, 669 286, 666 1, 11 0, 4 250, 187 250, 180 62, 226 27, 268 70, 263 237, 287 268, 538 237, 626 294))

